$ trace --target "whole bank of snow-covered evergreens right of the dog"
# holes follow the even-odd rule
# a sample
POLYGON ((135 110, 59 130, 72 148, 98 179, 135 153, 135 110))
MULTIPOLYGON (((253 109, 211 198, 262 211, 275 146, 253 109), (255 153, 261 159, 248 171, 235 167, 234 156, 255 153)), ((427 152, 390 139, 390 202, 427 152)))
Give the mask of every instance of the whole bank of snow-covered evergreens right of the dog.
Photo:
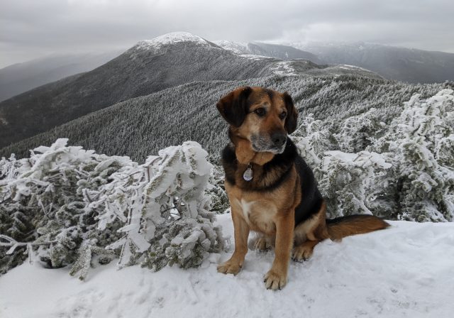
POLYGON ((415 94, 399 116, 381 115, 370 109, 342 122, 307 116, 296 132, 328 216, 372 212, 389 219, 454 221, 453 90, 428 99, 415 94))

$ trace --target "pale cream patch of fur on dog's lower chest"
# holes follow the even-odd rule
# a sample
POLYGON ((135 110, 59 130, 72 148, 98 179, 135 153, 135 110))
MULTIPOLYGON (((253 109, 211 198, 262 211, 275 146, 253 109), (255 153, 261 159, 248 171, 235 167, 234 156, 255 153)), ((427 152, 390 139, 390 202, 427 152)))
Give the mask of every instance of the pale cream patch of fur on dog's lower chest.
POLYGON ((236 209, 253 231, 273 234, 276 231, 275 216, 277 208, 264 199, 236 198, 236 209))

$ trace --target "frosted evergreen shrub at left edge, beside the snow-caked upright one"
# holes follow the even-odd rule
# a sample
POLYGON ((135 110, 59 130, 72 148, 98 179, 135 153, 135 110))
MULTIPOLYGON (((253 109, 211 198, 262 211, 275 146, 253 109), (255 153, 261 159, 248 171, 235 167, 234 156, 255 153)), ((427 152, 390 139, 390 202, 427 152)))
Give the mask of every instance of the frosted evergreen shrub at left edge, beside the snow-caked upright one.
POLYGON ((0 234, 4 235, 0 244, 11 246, 8 253, 0 248, 2 273, 26 258, 25 248, 31 253, 33 247, 46 266, 57 268, 74 263, 84 241, 94 238, 103 246, 118 238, 118 222, 104 233, 96 229, 96 212, 85 209, 78 182, 88 180, 86 187, 99 187, 125 159, 111 160, 92 150, 66 147, 66 142, 59 139, 50 147, 36 148, 31 158, 0 161, 0 234), (109 165, 95 169, 106 160, 109 165))

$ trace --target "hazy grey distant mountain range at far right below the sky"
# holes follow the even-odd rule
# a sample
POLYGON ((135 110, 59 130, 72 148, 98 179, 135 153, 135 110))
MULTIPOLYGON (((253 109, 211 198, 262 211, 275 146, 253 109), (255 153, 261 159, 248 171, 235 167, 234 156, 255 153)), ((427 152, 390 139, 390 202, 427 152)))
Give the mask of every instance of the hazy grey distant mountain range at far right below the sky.
POLYGON ((454 80, 454 53, 397 48, 372 43, 291 43, 325 63, 356 65, 387 79, 410 83, 454 80))

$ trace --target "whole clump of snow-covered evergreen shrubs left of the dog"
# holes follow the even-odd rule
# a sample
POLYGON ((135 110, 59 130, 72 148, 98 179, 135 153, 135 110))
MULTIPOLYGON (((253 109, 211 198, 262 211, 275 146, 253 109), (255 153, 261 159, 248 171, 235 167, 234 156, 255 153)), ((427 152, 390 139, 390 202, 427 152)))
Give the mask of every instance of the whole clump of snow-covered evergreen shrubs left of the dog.
POLYGON ((84 279, 93 256, 187 268, 224 247, 203 195, 211 165, 198 143, 160 150, 143 165, 66 143, 0 161, 1 273, 23 262, 25 249, 84 279))

